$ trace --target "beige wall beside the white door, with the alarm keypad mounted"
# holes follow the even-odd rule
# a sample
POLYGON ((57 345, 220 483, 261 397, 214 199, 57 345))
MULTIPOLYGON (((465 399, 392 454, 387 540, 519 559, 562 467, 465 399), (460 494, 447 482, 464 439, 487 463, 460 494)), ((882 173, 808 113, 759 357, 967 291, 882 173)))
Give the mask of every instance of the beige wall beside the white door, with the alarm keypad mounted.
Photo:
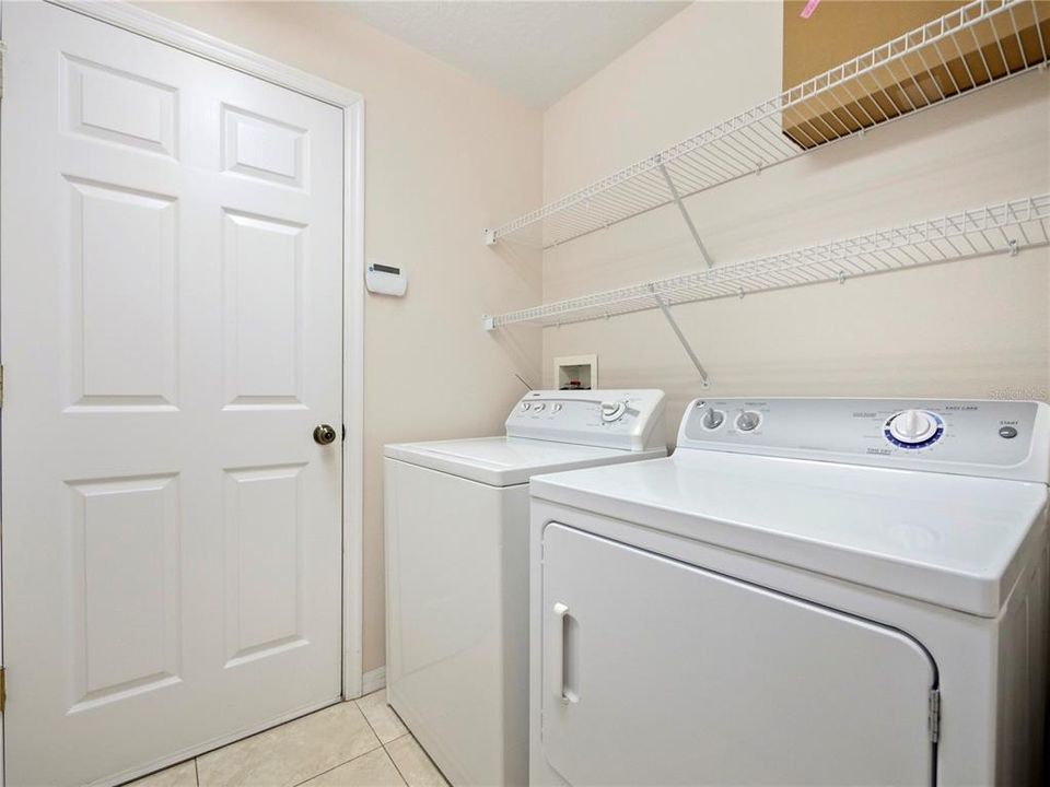
POLYGON ((409 272, 366 296, 364 669, 384 663, 383 444, 497 434, 537 379, 539 336, 481 330, 539 299, 539 260, 499 259, 481 231, 540 199, 528 109, 327 3, 143 3, 365 98, 365 255, 409 272))

